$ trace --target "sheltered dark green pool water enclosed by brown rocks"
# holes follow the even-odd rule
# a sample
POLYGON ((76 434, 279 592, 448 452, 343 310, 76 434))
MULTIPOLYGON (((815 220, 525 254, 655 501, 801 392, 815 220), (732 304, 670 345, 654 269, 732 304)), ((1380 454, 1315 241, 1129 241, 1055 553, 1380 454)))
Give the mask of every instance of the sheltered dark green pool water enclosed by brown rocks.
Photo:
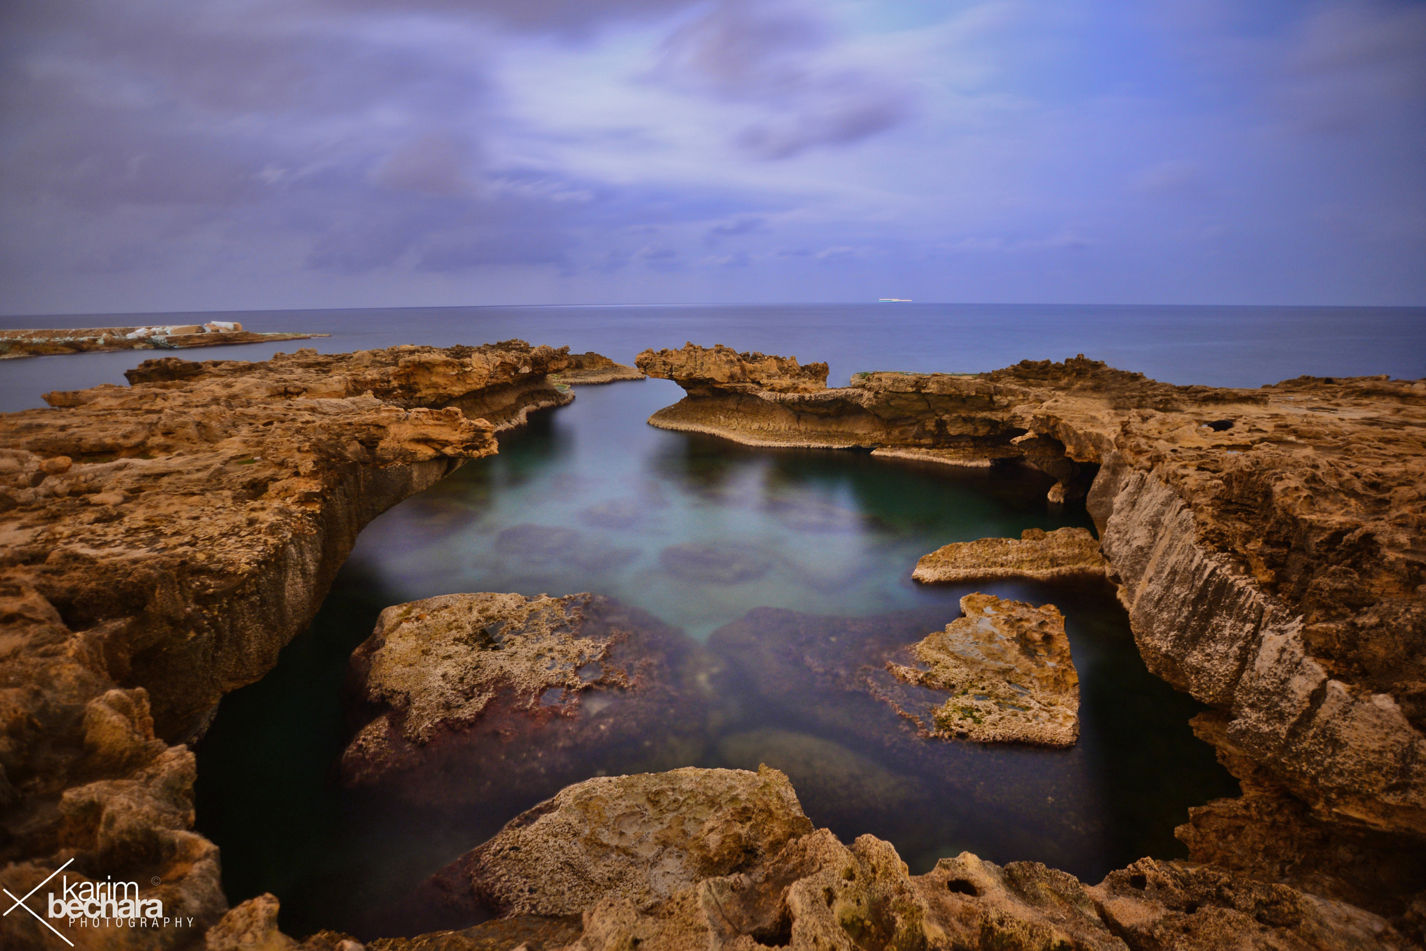
MULTIPOLYGON (((1144 669, 1108 585, 910 582, 917 557, 947 542, 1091 526, 1082 508, 1048 508, 1048 478, 653 429, 647 416, 682 396, 665 381, 578 394, 506 435, 498 456, 376 519, 312 627, 262 682, 222 701, 198 749, 198 828, 222 847, 231 901, 277 894, 295 934, 462 924, 414 903, 414 885, 558 786, 438 813, 335 780, 355 727, 341 696, 348 654, 382 607, 455 592, 589 590, 697 640, 780 607, 799 615, 759 613, 766 630, 754 636, 801 624, 888 646, 957 617, 971 590, 1057 605, 1081 679, 1081 739, 1067 751, 923 741, 907 757, 878 736, 901 729, 887 707, 820 699, 796 672, 769 674, 729 653, 726 634, 709 642, 717 701, 659 766, 783 768, 813 821, 846 840, 890 840, 913 873, 971 850, 1098 881, 1145 854, 1182 854, 1172 828, 1186 808, 1236 793, 1188 729, 1198 704, 1144 669), (670 572, 660 553, 676 545, 716 546, 739 580, 670 572)), ((573 777, 607 773, 602 756, 569 764, 573 777)))

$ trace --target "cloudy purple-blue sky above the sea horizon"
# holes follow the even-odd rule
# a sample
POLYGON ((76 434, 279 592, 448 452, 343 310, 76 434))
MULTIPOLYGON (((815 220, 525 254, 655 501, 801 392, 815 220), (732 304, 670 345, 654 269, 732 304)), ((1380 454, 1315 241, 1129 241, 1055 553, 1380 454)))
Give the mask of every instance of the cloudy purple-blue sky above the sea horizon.
POLYGON ((1422 0, 0 0, 0 314, 1426 304, 1422 0))

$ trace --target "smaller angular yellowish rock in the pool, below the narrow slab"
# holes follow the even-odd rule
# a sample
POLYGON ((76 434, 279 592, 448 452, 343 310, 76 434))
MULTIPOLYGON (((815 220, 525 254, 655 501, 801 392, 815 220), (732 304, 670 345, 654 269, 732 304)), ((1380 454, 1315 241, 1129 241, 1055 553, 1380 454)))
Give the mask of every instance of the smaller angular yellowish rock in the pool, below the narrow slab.
POLYGON ((933 737, 1074 746, 1079 674, 1060 610, 967 595, 961 613, 910 647, 911 664, 887 664, 894 677, 933 697, 888 697, 897 713, 933 737))

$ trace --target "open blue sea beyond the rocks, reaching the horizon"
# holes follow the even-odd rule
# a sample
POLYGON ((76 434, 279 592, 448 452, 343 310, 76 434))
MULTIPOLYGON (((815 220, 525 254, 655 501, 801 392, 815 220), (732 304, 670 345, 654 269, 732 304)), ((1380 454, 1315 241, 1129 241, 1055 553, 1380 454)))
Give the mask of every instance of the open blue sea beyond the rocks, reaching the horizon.
MULTIPOLYGON (((646 346, 712 346, 826 361, 831 385, 864 369, 980 372, 1021 359, 1085 354, 1171 384, 1261 386, 1302 374, 1426 376, 1426 308, 1099 307, 1030 304, 800 304, 643 307, 452 307, 359 311, 232 311, 0 317, 0 329, 235 319, 251 331, 331 334, 317 341, 215 346, 190 359, 265 359, 315 346, 339 354, 394 344, 483 344, 518 336, 569 344, 622 362, 646 346)), ((86 354, 0 362, 0 411, 39 394, 121 384, 160 356, 86 354)))

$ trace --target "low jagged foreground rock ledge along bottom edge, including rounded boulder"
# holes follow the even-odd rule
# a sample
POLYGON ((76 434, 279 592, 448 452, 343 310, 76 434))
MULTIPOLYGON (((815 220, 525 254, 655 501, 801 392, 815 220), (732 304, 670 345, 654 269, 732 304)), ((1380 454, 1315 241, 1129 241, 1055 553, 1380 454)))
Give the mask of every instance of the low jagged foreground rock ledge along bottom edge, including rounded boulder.
MULTIPOLYGON (((888 843, 843 844, 766 766, 600 777, 512 820, 442 870, 458 904, 503 910, 463 931, 379 938, 369 951, 1368 951, 1410 947, 1382 918, 1279 884, 1142 858, 1098 885, 971 853, 908 874, 888 843), (578 917, 576 917, 578 915, 578 917), (523 944, 520 944, 523 942, 523 944)), ((207 951, 298 945, 262 895, 207 951)))

